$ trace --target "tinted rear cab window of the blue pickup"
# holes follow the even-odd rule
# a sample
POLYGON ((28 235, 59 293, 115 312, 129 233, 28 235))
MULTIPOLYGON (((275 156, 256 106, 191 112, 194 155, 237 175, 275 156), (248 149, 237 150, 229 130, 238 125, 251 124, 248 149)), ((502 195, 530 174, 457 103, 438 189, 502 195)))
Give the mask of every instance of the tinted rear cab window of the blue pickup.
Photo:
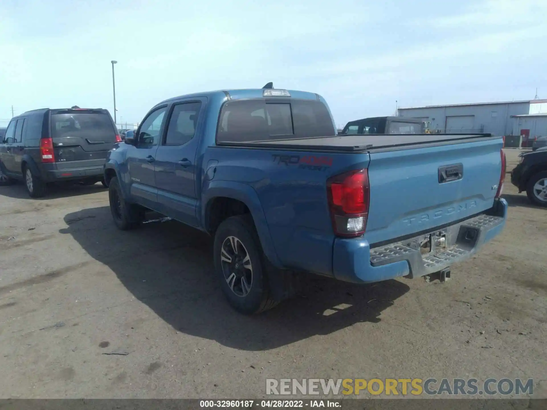
POLYGON ((251 142, 272 139, 336 135, 327 106, 306 99, 247 99, 228 101, 222 107, 218 142, 251 142))

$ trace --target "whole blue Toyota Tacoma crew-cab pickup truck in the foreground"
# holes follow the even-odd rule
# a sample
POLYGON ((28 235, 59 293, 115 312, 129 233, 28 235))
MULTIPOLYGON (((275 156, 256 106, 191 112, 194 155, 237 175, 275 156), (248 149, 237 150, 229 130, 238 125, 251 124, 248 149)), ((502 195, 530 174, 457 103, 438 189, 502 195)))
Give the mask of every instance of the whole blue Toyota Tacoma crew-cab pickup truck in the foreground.
POLYGON ((157 104, 109 153, 119 229, 152 209, 214 237, 237 311, 288 297, 298 272, 352 283, 447 272, 507 215, 502 139, 336 136, 324 99, 267 87, 157 104))

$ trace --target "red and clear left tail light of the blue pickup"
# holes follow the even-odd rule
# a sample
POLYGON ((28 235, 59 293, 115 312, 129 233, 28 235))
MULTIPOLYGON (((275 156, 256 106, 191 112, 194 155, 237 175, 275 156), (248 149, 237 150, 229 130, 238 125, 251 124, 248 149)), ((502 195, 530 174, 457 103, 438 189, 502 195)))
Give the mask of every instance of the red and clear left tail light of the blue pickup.
POLYGON ((330 177, 327 179, 327 197, 335 235, 363 235, 369 213, 368 170, 357 169, 330 177))

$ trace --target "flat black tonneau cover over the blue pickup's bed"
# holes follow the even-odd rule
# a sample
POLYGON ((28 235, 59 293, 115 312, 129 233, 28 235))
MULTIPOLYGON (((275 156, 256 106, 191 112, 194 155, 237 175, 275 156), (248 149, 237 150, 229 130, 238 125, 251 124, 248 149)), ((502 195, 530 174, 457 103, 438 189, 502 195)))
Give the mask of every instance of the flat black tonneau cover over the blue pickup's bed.
POLYGON ((217 142, 221 147, 305 149, 327 151, 350 151, 359 153, 415 145, 461 144, 469 140, 490 139, 492 134, 350 134, 344 136, 277 139, 250 141, 245 143, 217 142))

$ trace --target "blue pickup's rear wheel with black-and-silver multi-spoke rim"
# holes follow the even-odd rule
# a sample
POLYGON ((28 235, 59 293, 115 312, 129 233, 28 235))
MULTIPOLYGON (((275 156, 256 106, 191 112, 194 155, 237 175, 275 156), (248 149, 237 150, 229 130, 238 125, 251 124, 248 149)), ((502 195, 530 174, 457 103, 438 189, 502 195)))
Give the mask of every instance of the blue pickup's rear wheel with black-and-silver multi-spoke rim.
POLYGON ((265 258, 250 215, 231 216, 220 224, 214 236, 214 268, 237 312, 260 313, 278 303, 270 292, 265 258))

